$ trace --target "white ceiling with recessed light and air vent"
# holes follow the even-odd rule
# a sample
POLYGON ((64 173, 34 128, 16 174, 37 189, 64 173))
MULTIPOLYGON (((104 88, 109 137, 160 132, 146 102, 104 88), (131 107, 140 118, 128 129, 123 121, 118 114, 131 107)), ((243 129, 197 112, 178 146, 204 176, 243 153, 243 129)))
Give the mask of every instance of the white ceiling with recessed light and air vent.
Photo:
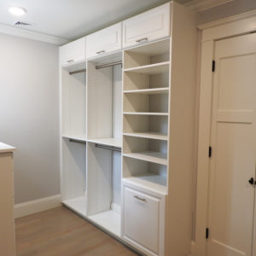
POLYGON ((1 0, 0 23, 13 26, 19 20, 32 24, 22 26, 26 29, 74 39, 166 2, 169 0, 1 0), (15 17, 9 14, 10 6, 23 7, 27 13, 15 17))

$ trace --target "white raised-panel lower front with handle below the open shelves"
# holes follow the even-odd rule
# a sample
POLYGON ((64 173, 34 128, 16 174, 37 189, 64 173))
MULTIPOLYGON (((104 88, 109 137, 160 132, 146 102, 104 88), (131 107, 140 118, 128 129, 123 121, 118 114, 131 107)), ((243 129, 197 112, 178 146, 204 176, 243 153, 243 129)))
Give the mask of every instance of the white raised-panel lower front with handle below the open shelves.
POLYGON ((160 247, 160 198, 124 188, 123 235, 153 254, 160 247))

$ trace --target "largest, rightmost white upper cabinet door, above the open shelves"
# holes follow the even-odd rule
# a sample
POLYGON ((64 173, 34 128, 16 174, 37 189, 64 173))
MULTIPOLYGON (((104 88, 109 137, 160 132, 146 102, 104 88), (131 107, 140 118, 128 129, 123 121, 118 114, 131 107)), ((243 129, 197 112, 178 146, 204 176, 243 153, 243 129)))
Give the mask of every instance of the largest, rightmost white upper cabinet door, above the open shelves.
POLYGON ((123 47, 170 37, 171 3, 123 21, 123 47))

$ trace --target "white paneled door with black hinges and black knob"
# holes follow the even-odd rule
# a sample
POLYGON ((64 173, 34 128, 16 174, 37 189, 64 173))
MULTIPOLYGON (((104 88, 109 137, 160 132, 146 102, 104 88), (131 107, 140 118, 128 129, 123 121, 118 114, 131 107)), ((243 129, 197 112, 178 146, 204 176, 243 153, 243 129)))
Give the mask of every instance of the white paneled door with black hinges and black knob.
POLYGON ((251 256, 256 33, 218 41, 215 61, 207 256, 251 256))

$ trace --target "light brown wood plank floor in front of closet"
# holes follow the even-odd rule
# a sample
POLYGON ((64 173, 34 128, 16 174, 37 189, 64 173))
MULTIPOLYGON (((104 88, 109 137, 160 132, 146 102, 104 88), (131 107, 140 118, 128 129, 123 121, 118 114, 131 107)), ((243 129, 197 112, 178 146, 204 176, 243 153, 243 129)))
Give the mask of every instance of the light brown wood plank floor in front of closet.
POLYGON ((65 207, 17 218, 17 256, 132 256, 119 241, 65 207))

